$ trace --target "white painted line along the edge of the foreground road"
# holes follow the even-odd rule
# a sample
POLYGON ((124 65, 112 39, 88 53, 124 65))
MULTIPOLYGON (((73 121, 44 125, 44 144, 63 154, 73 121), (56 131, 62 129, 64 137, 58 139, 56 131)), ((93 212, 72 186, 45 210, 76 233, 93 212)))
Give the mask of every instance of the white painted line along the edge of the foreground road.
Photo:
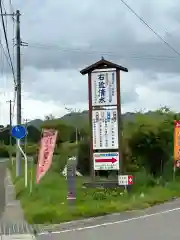
POLYGON ((74 231, 83 231, 86 229, 94 229, 94 228, 105 227, 105 226, 110 226, 110 225, 114 225, 114 224, 120 224, 120 223, 126 223, 126 222, 135 221, 135 220, 145 219, 145 218, 163 215, 163 214, 167 214, 167 213, 171 213, 171 212, 175 212, 175 211, 180 211, 180 208, 169 209, 169 210, 165 210, 162 212, 156 212, 156 213, 152 213, 152 214, 145 214, 145 215, 142 215, 139 217, 128 218, 125 220, 119 220, 119 221, 115 221, 115 222, 107 222, 107 223, 102 223, 102 224, 97 224, 97 225, 91 225, 91 226, 73 228, 73 229, 66 229, 66 230, 54 231, 54 232, 42 232, 42 233, 39 233, 38 235, 49 235, 51 233, 59 234, 59 233, 68 233, 68 232, 74 232, 74 231))

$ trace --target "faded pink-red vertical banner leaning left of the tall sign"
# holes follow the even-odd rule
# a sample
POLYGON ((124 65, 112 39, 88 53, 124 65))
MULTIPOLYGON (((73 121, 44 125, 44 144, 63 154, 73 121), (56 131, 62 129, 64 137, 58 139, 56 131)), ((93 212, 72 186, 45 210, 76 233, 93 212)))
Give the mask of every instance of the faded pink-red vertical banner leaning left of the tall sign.
POLYGON ((52 164, 54 148, 56 145, 58 131, 54 129, 44 129, 38 156, 38 164, 36 170, 36 183, 46 174, 52 164))

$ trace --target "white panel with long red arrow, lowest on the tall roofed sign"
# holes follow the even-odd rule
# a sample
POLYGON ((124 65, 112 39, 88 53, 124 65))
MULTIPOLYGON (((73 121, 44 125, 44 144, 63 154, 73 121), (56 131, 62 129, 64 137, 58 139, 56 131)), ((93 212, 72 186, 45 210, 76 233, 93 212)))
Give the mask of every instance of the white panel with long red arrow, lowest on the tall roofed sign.
POLYGON ((119 170, 119 153, 93 153, 94 170, 119 170))

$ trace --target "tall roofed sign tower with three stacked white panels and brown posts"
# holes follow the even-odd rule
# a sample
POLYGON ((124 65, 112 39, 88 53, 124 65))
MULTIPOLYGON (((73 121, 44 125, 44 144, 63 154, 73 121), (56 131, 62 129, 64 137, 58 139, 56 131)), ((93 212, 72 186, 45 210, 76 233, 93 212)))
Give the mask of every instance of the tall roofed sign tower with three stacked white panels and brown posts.
POLYGON ((90 170, 123 172, 120 71, 128 69, 102 58, 80 71, 88 74, 90 170))

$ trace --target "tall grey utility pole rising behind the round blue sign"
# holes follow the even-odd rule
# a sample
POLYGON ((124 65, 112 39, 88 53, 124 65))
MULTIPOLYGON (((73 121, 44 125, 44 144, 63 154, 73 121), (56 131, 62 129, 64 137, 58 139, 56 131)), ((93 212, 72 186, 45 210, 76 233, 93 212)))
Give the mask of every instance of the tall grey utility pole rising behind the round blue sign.
MULTIPOLYGON (((17 55, 17 125, 21 125, 21 37, 20 37, 20 11, 16 11, 16 55, 17 55)), ((21 152, 16 142, 16 176, 21 175, 21 152)))

